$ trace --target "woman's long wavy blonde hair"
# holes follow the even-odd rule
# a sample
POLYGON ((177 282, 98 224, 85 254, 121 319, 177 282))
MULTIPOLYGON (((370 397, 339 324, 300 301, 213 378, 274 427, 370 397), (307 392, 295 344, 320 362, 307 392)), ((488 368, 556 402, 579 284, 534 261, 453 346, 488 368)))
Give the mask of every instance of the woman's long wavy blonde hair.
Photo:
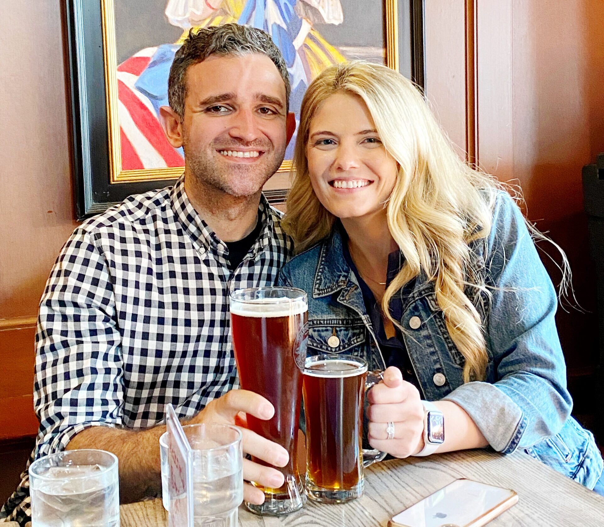
POLYGON ((306 145, 313 115, 336 92, 365 101, 385 149, 400 167, 385 208, 405 263, 384 293, 384 315, 403 330, 391 316, 390 299, 423 270, 434 283, 451 339, 466 359, 464 382, 483 379, 488 362, 483 326, 466 288, 486 288, 469 243, 489 235, 496 192, 503 185, 461 161, 416 86, 397 72, 361 61, 342 63, 324 70, 307 89, 283 222, 296 252, 327 237, 335 222, 313 191, 306 145))

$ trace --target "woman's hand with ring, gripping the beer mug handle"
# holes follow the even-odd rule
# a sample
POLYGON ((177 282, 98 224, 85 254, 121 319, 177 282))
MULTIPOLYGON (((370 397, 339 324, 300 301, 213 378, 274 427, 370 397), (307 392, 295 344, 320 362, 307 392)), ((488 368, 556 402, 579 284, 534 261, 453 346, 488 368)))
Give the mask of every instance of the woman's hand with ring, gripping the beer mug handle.
POLYGON ((417 388, 403 380, 399 368, 387 368, 383 379, 367 394, 369 444, 396 458, 406 458, 423 449, 422 400, 417 388), (388 439, 390 421, 394 423, 393 439, 388 439))

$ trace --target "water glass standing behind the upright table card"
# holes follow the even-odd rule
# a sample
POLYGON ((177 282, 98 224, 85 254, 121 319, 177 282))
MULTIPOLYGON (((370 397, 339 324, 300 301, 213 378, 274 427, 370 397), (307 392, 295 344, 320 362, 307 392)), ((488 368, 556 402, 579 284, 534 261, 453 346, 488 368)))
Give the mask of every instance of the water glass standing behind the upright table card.
MULTIPOLYGON (((237 527, 237 508, 243 502, 240 430, 223 424, 188 424, 182 429, 193 450, 194 525, 237 527)), ((159 439, 159 453, 162 500, 169 511, 170 502, 179 496, 167 499, 170 482, 167 433, 159 439)))

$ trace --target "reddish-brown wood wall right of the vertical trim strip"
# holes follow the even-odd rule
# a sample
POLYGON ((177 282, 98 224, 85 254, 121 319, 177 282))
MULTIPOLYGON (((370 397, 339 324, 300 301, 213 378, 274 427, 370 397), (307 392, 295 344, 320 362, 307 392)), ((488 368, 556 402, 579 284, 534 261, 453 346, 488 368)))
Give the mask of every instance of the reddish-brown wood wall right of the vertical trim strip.
POLYGON ((604 152, 603 23, 600 0, 485 1, 477 8, 478 159, 500 179, 518 180, 529 219, 568 256, 576 299, 587 311, 557 314, 571 377, 591 378, 598 360, 581 169, 604 152))

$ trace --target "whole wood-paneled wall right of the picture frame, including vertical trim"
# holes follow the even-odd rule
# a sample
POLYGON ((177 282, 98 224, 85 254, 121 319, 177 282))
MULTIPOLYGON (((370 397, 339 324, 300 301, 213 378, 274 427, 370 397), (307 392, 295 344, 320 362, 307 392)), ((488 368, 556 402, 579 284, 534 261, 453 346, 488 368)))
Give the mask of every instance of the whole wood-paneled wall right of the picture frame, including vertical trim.
POLYGON ((443 126, 481 168, 521 185, 528 218, 568 256, 584 311, 567 305, 556 321, 571 392, 594 413, 596 272, 581 168, 604 152, 604 2, 442 0, 426 10, 427 94, 443 126))

